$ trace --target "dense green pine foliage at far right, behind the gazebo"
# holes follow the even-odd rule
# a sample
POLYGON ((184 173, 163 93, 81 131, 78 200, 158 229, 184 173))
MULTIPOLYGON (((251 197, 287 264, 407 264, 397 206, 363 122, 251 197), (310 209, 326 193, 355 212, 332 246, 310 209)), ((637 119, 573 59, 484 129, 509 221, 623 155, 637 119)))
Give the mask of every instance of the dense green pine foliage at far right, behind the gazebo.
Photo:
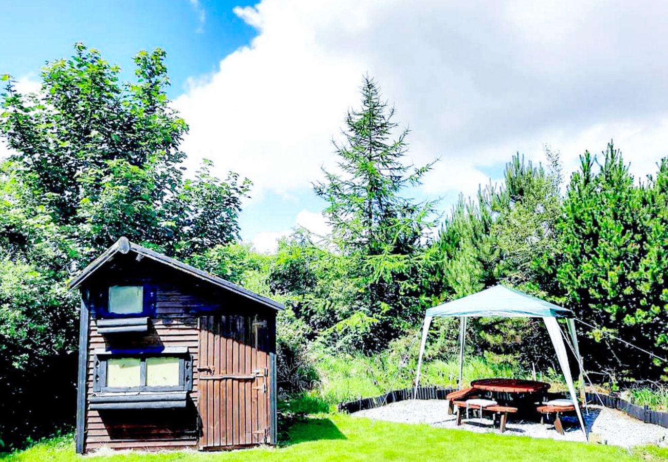
POLYGON ((613 380, 657 379, 668 366, 645 356, 639 361, 637 351, 602 335, 611 332, 665 356, 665 168, 664 160, 656 179, 638 184, 612 143, 601 163, 586 152, 566 190, 558 248, 543 262, 558 281, 556 299, 597 326, 582 326, 589 367, 613 380))

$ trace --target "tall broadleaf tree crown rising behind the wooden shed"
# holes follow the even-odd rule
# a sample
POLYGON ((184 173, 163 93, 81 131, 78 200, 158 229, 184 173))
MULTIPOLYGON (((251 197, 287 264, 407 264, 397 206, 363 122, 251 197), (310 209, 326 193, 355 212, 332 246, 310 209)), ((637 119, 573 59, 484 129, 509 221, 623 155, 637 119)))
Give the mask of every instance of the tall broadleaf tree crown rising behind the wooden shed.
POLYGON ((178 256, 238 236, 240 199, 250 182, 214 178, 205 162, 184 180, 186 122, 169 105, 166 53, 140 51, 136 83, 95 49, 43 69, 41 91, 21 95, 9 76, 0 134, 21 181, 90 257, 120 236, 178 256))

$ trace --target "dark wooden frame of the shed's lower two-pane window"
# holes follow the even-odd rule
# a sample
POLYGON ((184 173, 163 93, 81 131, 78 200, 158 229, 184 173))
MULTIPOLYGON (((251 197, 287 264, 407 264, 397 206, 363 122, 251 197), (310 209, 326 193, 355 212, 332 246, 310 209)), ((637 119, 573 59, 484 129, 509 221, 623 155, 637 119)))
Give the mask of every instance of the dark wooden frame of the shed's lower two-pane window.
POLYGON ((192 355, 182 351, 136 352, 114 351, 98 352, 95 358, 93 391, 100 393, 123 392, 154 392, 154 391, 192 391, 192 355), (156 357, 178 358, 178 385, 151 387, 146 385, 146 359, 156 357), (139 358, 140 359, 140 386, 139 387, 107 387, 107 366, 109 359, 139 358))

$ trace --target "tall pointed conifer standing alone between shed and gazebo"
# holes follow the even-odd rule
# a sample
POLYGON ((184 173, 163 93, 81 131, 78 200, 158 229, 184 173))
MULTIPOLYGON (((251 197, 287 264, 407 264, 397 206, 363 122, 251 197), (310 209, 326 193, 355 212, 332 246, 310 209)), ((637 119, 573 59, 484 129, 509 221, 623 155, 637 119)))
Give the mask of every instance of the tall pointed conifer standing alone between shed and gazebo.
POLYGON ((358 262, 348 277, 358 281, 359 306, 338 327, 368 334, 367 346, 392 338, 416 319, 420 240, 434 209, 434 202, 403 195, 421 183, 433 162, 421 168, 405 165, 408 130, 392 138, 398 127, 393 116, 375 81, 365 77, 361 109, 348 112, 344 141, 334 142, 339 172, 325 171, 325 182, 314 186, 328 203, 324 214, 333 243, 345 258, 358 262))

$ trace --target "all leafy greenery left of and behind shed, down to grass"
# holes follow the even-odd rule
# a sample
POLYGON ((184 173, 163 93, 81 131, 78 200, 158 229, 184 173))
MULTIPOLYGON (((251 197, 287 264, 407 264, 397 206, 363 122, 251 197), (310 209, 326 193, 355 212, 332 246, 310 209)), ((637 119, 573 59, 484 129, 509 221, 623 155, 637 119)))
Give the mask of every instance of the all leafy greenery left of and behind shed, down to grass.
POLYGON ((0 136, 12 152, 0 164, 6 445, 73 421, 78 302, 67 280, 120 236, 232 279, 247 272, 232 261, 244 260, 232 243, 251 184, 233 173, 215 178, 210 162, 183 178, 188 126, 166 97, 164 51, 138 53, 136 81, 121 83, 118 66, 98 51, 74 48, 70 59, 47 63, 38 93, 2 79, 0 136), (54 371, 63 379, 35 403, 37 385, 54 371))

